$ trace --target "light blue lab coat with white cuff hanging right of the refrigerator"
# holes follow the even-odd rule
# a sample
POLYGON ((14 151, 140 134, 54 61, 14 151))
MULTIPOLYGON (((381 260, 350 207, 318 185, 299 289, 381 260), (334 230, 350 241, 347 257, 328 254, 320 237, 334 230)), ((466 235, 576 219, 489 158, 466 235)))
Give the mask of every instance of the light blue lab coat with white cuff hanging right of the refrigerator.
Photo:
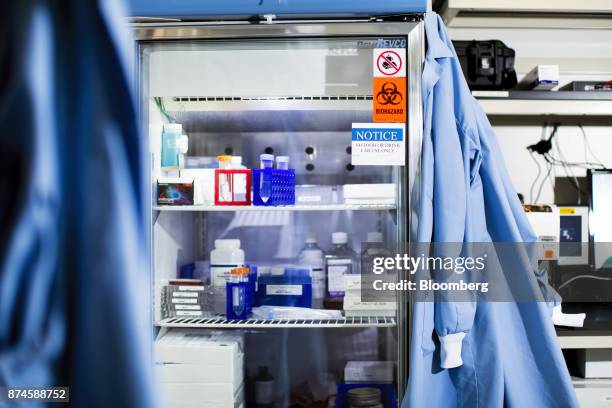
MULTIPOLYGON (((419 242, 533 242, 442 20, 425 18, 419 242)), ((537 287, 526 264, 520 279, 537 287)), ((545 302, 417 302, 403 407, 575 407, 545 302)))

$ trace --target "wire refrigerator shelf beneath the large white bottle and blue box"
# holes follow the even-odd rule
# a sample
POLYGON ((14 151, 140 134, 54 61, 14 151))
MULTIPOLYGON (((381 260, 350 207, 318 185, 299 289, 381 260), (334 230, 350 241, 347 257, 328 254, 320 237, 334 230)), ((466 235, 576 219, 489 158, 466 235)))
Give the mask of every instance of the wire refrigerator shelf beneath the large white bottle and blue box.
POLYGON ((185 327, 201 329, 268 329, 268 328, 347 328, 395 327, 395 317, 346 317, 337 320, 227 320, 224 317, 193 318, 170 317, 157 322, 158 327, 185 327))

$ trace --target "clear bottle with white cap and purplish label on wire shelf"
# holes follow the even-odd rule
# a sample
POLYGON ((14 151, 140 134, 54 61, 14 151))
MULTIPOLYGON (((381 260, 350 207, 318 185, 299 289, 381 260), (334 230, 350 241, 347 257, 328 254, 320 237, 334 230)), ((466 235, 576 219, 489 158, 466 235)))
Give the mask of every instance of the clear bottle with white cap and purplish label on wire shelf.
POLYGON ((325 307, 341 309, 344 298, 344 275, 359 273, 359 257, 348 244, 346 232, 332 234, 332 248, 325 257, 327 275, 325 307))

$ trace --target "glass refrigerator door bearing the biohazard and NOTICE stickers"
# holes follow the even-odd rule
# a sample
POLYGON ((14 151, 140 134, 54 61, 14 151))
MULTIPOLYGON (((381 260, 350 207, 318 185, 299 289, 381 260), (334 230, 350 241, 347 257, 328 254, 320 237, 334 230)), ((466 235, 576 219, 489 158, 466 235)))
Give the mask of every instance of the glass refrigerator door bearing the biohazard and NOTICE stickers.
POLYGON ((401 397, 405 299, 367 305, 346 285, 371 273, 361 262, 368 237, 408 240, 420 32, 417 23, 137 30, 155 358, 168 404, 327 407, 369 398, 386 407, 401 397), (393 53, 380 57, 381 45, 393 53), (377 69, 387 74, 375 78, 377 69), (364 124, 397 121, 402 107, 406 165, 355 164, 352 129, 396 127, 364 124), (288 157, 290 170, 280 159, 251 175, 265 167, 262 155, 288 157), (255 293, 228 289, 249 281, 230 273, 241 264, 258 270, 255 293), (264 308, 245 317, 249 296, 264 308), (184 355, 168 353, 179 338, 190 339, 180 343, 184 355), (206 347, 223 342, 238 346, 207 359, 206 347), (349 393, 364 384, 374 388, 365 397, 349 393))

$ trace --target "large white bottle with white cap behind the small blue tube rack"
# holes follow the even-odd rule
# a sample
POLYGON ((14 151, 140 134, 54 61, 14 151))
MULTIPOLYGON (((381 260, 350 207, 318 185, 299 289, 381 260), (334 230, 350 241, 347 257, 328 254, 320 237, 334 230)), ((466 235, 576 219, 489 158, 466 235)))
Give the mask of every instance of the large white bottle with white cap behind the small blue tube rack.
POLYGON ((215 313, 226 312, 225 286, 232 269, 244 264, 244 251, 239 239, 216 239, 215 249, 210 251, 210 282, 215 293, 215 313))

